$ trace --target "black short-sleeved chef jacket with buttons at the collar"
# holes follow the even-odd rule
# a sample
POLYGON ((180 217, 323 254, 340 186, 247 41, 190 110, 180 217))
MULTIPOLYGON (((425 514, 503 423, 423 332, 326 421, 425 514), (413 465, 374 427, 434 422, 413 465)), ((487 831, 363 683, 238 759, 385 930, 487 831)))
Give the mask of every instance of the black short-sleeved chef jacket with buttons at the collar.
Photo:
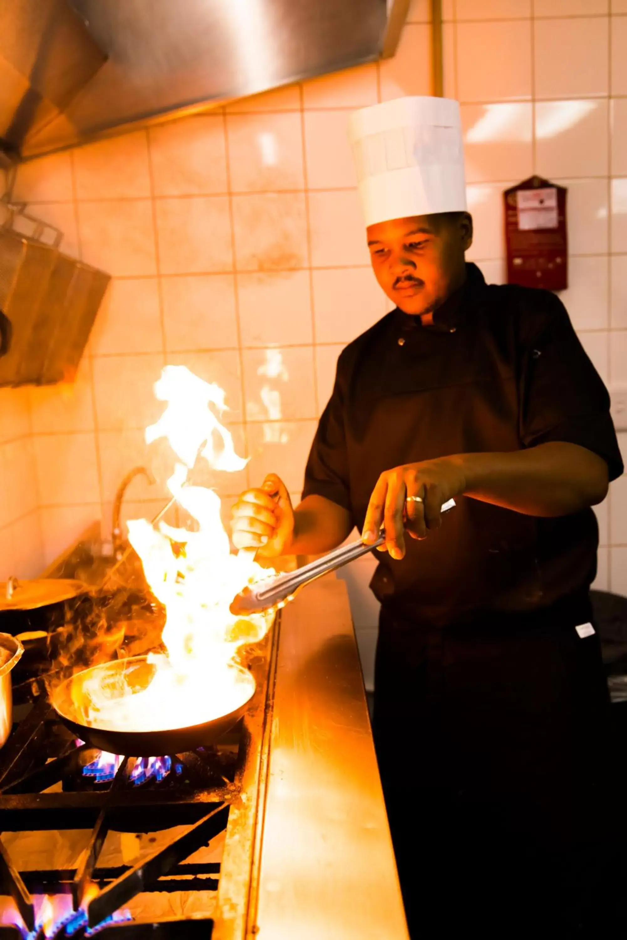
MULTIPOLYGON (((609 397, 557 297, 487 286, 474 264, 433 315, 399 309, 341 352, 306 465, 304 497, 348 509, 362 528, 379 475, 450 454, 567 441, 622 473, 609 397)), ((596 573, 592 509, 556 519, 460 497, 442 528, 381 555, 385 609, 434 627, 537 610, 585 593, 596 573)))

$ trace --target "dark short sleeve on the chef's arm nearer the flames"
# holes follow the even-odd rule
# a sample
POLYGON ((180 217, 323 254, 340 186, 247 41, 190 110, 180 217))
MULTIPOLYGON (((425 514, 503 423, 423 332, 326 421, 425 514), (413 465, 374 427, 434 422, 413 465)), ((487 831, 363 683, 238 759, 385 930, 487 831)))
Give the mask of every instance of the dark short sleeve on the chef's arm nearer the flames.
POLYGON ((329 403, 322 412, 305 470, 303 499, 316 494, 352 511, 340 360, 329 403))

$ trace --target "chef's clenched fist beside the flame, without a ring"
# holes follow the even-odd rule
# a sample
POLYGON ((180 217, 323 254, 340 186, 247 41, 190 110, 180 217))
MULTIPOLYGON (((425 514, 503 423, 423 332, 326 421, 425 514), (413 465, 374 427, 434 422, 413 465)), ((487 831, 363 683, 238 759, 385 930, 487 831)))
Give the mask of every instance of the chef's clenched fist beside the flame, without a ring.
POLYGON ((289 554, 294 510, 290 493, 276 474, 268 474, 259 489, 242 493, 231 513, 236 548, 256 548, 265 558, 289 554))

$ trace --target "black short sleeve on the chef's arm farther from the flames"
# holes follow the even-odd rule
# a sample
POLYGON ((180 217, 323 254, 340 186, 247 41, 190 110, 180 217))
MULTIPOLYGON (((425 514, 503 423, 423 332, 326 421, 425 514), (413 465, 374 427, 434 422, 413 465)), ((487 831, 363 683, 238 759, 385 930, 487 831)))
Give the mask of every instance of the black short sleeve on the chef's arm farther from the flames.
MULTIPOLYGON (((523 322, 521 439, 525 446, 565 441, 603 457, 610 480, 623 471, 603 381, 555 294, 523 322)), ((525 318, 525 312, 523 312, 525 318)))

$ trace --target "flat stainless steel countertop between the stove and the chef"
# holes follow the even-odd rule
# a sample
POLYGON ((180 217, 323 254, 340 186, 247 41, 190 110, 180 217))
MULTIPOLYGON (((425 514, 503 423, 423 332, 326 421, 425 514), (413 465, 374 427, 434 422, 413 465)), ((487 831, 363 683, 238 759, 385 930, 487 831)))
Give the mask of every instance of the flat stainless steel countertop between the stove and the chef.
POLYGON ((258 884, 260 940, 408 937, 348 595, 334 575, 282 614, 258 884))

